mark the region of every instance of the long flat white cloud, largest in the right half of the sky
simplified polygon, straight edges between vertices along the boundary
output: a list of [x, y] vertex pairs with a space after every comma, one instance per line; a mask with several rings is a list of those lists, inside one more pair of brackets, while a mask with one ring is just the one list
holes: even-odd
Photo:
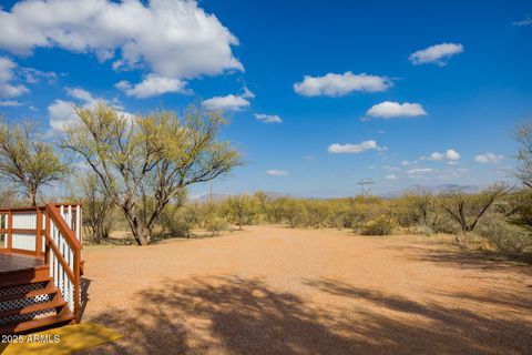
[[378, 92], [391, 88], [393, 83], [386, 77], [328, 73], [324, 77], [305, 75], [301, 82], [294, 84], [294, 91], [304, 97], [344, 97], [354, 91]]

